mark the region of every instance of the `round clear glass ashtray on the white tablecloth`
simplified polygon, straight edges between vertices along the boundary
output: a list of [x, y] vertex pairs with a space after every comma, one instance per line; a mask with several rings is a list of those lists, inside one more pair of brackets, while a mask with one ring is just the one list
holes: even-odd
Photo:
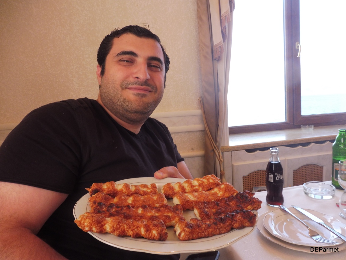
[[335, 187], [333, 185], [320, 182], [309, 181], [303, 184], [304, 193], [313, 199], [331, 199], [335, 194]]

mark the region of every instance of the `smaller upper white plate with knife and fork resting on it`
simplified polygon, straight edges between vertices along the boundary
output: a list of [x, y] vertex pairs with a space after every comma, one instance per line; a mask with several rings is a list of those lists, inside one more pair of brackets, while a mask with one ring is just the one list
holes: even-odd
[[[296, 209], [289, 208], [289, 210], [295, 216], [303, 220], [309, 227], [317, 231], [322, 237], [328, 240], [335, 241], [336, 242], [335, 245], [339, 245], [344, 242], [337, 235], [331, 233], [327, 228], [314, 222], [313, 220], [306, 217], [305, 215], [303, 215]], [[311, 214], [322, 219], [326, 223], [326, 225], [328, 225], [329, 223], [330, 224], [329, 226], [334, 228], [339, 233], [343, 235], [346, 234], [345, 225], [341, 223], [339, 220], [314, 210], [310, 210], [310, 209], [306, 209], [306, 210], [310, 212]], [[280, 209], [273, 210], [269, 212], [268, 214], [266, 214], [266, 216], [263, 219], [263, 225], [265, 229], [271, 235], [288, 243], [302, 245], [302, 246], [310, 246], [310, 247], [311, 246], [319, 246], [319, 247], [330, 246], [330, 244], [321, 243], [321, 242], [317, 242], [313, 240], [309, 236], [309, 230], [306, 226], [304, 226], [297, 219], [295, 219], [294, 217], [292, 217], [291, 215], [285, 213], [284, 211]]]

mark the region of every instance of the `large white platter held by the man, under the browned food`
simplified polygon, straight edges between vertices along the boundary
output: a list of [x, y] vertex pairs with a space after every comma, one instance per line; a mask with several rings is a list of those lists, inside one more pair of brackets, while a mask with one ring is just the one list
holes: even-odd
[[[164, 184], [171, 182], [183, 182], [185, 179], [176, 179], [176, 178], [165, 178], [162, 180], [155, 179], [154, 177], [142, 177], [142, 178], [133, 178], [117, 181], [117, 183], [129, 183], [133, 185], [137, 184], [151, 184], [155, 183], [158, 190], [161, 191], [161, 188]], [[89, 193], [81, 197], [74, 206], [73, 215], [74, 218], [78, 218], [80, 215], [90, 210], [89, 207]], [[172, 199], [168, 200], [170, 205], [173, 205]], [[257, 210], [253, 210], [257, 215]], [[184, 216], [186, 220], [195, 218], [195, 215], [192, 210], [184, 210]], [[258, 216], [258, 215], [257, 215]], [[95, 237], [95, 239], [106, 243], [117, 248], [129, 250], [129, 251], [138, 251], [146, 252], [153, 254], [176, 254], [176, 253], [193, 253], [193, 252], [207, 252], [213, 251], [220, 248], [224, 248], [242, 237], [250, 234], [254, 230], [254, 227], [245, 227], [243, 229], [232, 229], [226, 234], [216, 235], [212, 237], [206, 237], [202, 239], [190, 240], [190, 241], [180, 241], [173, 227], [167, 228], [168, 238], [166, 241], [154, 241], [147, 240], [143, 238], [132, 238], [129, 236], [118, 237], [109, 233], [98, 234], [94, 232], [88, 232], [90, 235]]]

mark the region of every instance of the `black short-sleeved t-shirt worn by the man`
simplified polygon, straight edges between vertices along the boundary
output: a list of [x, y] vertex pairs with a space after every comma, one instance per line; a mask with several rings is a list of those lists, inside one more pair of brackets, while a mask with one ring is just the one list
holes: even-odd
[[94, 182], [152, 177], [183, 161], [167, 127], [149, 118], [138, 135], [95, 100], [69, 99], [30, 112], [0, 147], [0, 181], [67, 193], [38, 236], [68, 259], [179, 259], [121, 250], [73, 222], [73, 207]]

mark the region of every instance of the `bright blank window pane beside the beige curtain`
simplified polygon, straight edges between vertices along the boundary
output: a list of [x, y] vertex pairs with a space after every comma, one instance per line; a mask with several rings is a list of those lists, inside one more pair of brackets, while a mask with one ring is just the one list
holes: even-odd
[[283, 3], [237, 1], [233, 16], [228, 125], [285, 122]]

